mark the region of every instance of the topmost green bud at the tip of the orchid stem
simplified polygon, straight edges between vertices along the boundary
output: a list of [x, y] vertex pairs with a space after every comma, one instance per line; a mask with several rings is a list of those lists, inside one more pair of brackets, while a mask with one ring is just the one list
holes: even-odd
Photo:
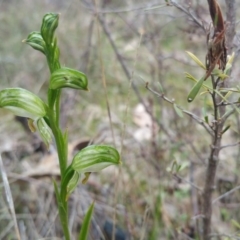
[[59, 14], [47, 13], [43, 17], [41, 34], [46, 44], [52, 44], [54, 32], [58, 26]]

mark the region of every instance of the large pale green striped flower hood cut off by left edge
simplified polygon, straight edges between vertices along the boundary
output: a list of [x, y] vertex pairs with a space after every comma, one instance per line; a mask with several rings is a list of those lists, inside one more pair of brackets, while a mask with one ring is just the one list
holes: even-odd
[[0, 91], [0, 107], [15, 115], [37, 120], [47, 113], [47, 105], [35, 94], [23, 88], [6, 88]]

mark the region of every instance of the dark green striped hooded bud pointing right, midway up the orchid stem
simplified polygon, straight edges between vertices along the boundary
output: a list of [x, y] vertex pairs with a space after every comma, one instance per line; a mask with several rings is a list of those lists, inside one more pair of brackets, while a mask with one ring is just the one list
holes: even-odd
[[88, 80], [84, 73], [64, 67], [53, 72], [49, 88], [75, 88], [88, 90], [87, 86]]

